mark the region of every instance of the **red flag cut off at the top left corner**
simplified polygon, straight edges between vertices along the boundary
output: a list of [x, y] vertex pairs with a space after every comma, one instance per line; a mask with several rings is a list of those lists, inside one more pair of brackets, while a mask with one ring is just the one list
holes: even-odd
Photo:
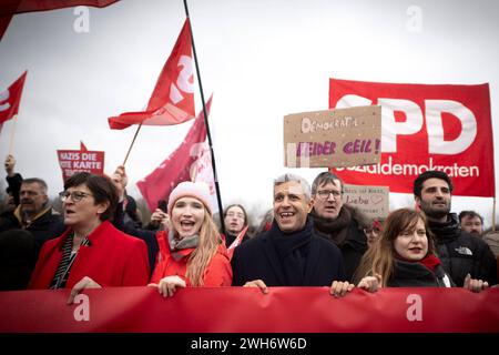
[[77, 6], [105, 8], [119, 0], [2, 0], [0, 7], [0, 39], [14, 13], [47, 11]]

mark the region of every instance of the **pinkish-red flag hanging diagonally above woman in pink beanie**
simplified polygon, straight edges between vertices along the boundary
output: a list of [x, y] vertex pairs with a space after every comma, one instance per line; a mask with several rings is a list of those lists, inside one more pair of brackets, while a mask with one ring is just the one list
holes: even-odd
[[[211, 105], [212, 98], [206, 103], [207, 114], [210, 114]], [[197, 160], [200, 146], [205, 140], [206, 126], [203, 111], [201, 111], [183, 143], [151, 174], [136, 183], [151, 211], [156, 209], [157, 201], [167, 200], [170, 192], [179, 183], [192, 180], [191, 168]]]

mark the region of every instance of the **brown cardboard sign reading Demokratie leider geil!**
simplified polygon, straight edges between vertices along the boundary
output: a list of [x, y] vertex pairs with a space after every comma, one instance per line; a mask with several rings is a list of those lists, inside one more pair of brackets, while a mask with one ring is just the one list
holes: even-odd
[[381, 108], [377, 105], [284, 116], [284, 165], [346, 168], [379, 162]]

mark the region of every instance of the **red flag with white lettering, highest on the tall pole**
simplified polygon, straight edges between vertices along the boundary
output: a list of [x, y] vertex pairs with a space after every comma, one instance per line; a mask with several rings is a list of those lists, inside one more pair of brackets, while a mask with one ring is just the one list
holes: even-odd
[[175, 47], [157, 78], [146, 111], [125, 112], [108, 120], [112, 130], [122, 130], [141, 122], [145, 125], [179, 124], [194, 116], [191, 24], [186, 19]]

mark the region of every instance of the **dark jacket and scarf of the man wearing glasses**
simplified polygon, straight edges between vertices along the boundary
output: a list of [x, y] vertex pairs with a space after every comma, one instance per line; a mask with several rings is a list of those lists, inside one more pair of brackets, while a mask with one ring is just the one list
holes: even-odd
[[334, 242], [342, 251], [345, 263], [346, 280], [352, 281], [360, 258], [367, 251], [367, 239], [360, 225], [366, 216], [355, 207], [343, 205], [336, 220], [319, 217], [314, 210], [310, 212], [314, 229], [320, 235]]

